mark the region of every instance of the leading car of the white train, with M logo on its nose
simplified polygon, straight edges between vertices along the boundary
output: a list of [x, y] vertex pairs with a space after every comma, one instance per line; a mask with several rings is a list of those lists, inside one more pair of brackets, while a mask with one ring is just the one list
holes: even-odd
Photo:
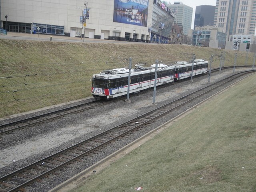
[[[158, 64], [157, 86], [174, 81], [174, 66]], [[128, 92], [128, 68], [106, 70], [92, 76], [94, 97], [115, 98]], [[130, 73], [130, 93], [154, 87], [155, 64], [151, 68], [132, 69]]]

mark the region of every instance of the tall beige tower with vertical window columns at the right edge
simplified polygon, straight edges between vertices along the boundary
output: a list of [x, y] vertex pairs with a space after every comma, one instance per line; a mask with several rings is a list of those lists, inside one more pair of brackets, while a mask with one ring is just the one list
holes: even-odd
[[228, 36], [254, 34], [256, 27], [255, 0], [216, 0], [214, 26]]

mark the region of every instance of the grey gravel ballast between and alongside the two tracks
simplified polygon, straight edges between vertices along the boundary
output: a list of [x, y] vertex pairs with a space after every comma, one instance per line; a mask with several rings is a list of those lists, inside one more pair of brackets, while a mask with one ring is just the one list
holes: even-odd
[[[239, 70], [242, 71], [247, 69]], [[232, 70], [222, 70], [221, 72], [212, 73], [210, 83], [216, 82], [218, 79], [232, 74]], [[91, 109], [89, 112], [70, 114], [52, 122], [36, 125], [31, 128], [25, 128], [13, 132], [12, 134], [1, 136], [0, 176], [17, 170], [18, 168], [26, 166], [36, 160], [40, 160], [41, 158], [49, 156], [50, 154], [58, 152], [68, 146], [81, 142], [90, 136], [112, 128], [113, 126], [122, 124], [136, 116], [189, 94], [194, 90], [207, 86], [208, 84], [208, 75], [193, 78], [193, 82], [190, 80], [174, 82], [173, 84], [170, 84], [170, 86], [164, 88], [157, 87], [155, 105], [152, 104], [152, 89], [149, 92], [142, 92], [140, 94], [130, 96], [131, 103], [125, 102], [124, 98], [123, 100], [117, 100], [111, 104], [101, 106], [100, 108]], [[83, 101], [78, 101], [73, 104], [81, 102]], [[64, 106], [58, 106], [57, 108], [63, 107]], [[38, 111], [35, 113], [38, 114], [41, 112]], [[29, 113], [25, 116], [34, 116], [35, 113]], [[173, 115], [175, 116], [176, 114]], [[171, 117], [168, 118], [170, 119]], [[166, 122], [168, 118], [163, 119], [162, 122], [152, 125], [149, 129], [160, 126], [162, 123]], [[10, 119], [5, 121], [10, 121]], [[63, 175], [60, 173], [60, 175], [52, 176], [50, 180], [54, 180], [53, 183], [48, 182], [46, 179], [46, 181], [42, 183], [44, 188], [40, 188], [42, 188], [42, 191], [48, 191], [50, 188], [53, 188], [54, 185], [64, 182], [66, 179], [82, 171], [86, 166], [89, 166], [101, 159], [102, 156], [111, 154], [116, 149], [121, 148], [132, 140], [142, 136], [147, 131], [148, 130], [142, 130], [138, 135], [134, 135], [123, 143], [109, 147], [108, 150], [104, 152], [105, 154], [99, 154], [98, 157], [94, 157], [94, 160], [92, 160], [93, 162], [88, 160], [88, 162], [83, 166], [78, 165], [77, 168], [74, 168], [76, 166], [74, 165], [74, 167], [70, 169], [67, 168], [67, 172]]]

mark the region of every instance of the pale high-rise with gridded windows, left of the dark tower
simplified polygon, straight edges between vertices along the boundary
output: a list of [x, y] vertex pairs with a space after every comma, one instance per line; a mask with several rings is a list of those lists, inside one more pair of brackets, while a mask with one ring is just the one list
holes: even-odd
[[167, 6], [176, 14], [173, 23], [182, 27], [184, 35], [187, 35], [191, 28], [193, 8], [184, 5], [182, 2], [174, 2], [174, 4], [168, 4]]

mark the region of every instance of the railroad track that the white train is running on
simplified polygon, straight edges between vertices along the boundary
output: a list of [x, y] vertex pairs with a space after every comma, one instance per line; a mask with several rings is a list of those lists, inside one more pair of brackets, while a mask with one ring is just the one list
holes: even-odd
[[[251, 67], [251, 66], [236, 66], [236, 67], [240, 68], [240, 67]], [[233, 68], [233, 66], [222, 67], [222, 70], [229, 69], [229, 68]], [[219, 68], [214, 68], [211, 70], [211, 72], [217, 72], [217, 71], [219, 71]], [[168, 85], [164, 85], [164, 86], [168, 86]], [[164, 86], [162, 86], [162, 87], [164, 87]], [[110, 101], [96, 100], [96, 101], [92, 101], [92, 102], [87, 102], [85, 104], [80, 104], [77, 106], [72, 106], [72, 107], [61, 109], [61, 110], [56, 110], [54, 112], [49, 112], [49, 113], [42, 114], [39, 116], [33, 116], [30, 118], [25, 118], [25, 119], [10, 122], [7, 124], [2, 124], [2, 125], [0, 125], [0, 135], [6, 134], [6, 133], [11, 133], [11, 132], [14, 132], [15, 130], [19, 130], [19, 129], [23, 129], [23, 128], [28, 128], [28, 127], [34, 126], [36, 124], [42, 124], [43, 122], [51, 121], [56, 118], [61, 118], [62, 116], [65, 116], [68, 114], [81, 112], [81, 111], [84, 111], [84, 110], [87, 110], [87, 109], [90, 109], [90, 108], [93, 108], [96, 106], [100, 106], [102, 104], [107, 104], [108, 102], [112, 102], [112, 101], [111, 100]]]

